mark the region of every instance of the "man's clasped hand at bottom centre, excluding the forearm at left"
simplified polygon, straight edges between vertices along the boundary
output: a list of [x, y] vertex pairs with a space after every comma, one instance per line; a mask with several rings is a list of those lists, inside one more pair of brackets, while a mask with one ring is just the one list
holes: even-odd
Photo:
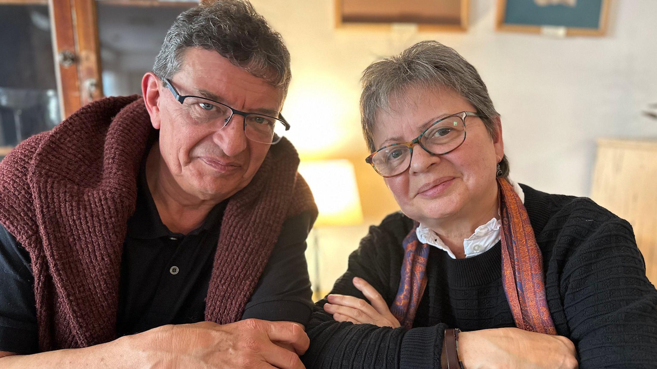
[[299, 355], [308, 345], [299, 324], [256, 319], [162, 326], [122, 341], [127, 354], [136, 355], [139, 364], [164, 368], [302, 369]]

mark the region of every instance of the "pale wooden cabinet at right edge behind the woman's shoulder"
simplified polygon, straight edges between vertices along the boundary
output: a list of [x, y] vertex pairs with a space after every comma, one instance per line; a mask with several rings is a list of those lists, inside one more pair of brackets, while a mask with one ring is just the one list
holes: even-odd
[[657, 284], [657, 140], [600, 139], [591, 198], [629, 221]]

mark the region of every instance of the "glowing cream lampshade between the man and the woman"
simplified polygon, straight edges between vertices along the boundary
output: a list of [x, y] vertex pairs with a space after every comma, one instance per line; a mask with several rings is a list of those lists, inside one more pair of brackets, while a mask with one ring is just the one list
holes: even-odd
[[299, 173], [306, 179], [319, 208], [315, 226], [363, 223], [356, 177], [349, 160], [301, 162]]

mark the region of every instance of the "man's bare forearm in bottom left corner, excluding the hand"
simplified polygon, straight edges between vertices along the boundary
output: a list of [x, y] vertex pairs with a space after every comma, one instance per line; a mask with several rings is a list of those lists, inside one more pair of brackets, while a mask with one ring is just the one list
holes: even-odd
[[134, 368], [137, 358], [121, 347], [123, 339], [82, 349], [0, 357], [0, 368]]

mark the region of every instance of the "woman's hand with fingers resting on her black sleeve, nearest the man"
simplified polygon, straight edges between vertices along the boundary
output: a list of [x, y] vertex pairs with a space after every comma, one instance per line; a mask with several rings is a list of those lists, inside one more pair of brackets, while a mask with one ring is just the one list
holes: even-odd
[[353, 324], [374, 324], [380, 327], [399, 327], [399, 322], [390, 313], [388, 304], [380, 293], [365, 282], [364, 279], [354, 277], [353, 286], [367, 297], [370, 303], [363, 299], [346, 295], [328, 295], [328, 303], [324, 304], [324, 311], [333, 315], [338, 322], [352, 322]]

